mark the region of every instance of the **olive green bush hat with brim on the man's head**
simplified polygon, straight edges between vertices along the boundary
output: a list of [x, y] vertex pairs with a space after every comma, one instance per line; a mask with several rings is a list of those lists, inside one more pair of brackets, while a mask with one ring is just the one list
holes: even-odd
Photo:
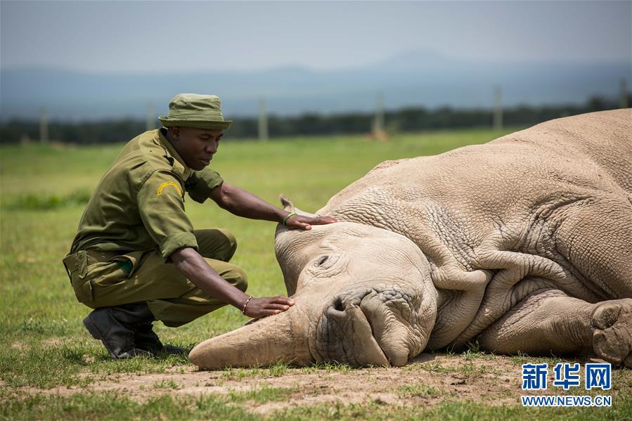
[[179, 93], [169, 101], [169, 115], [161, 115], [158, 119], [165, 127], [226, 130], [233, 121], [224, 119], [219, 104], [218, 96]]

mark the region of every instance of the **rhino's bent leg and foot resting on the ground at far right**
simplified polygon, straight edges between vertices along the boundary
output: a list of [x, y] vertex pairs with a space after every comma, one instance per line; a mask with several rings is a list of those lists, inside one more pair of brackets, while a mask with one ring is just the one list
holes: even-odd
[[592, 349], [632, 367], [632, 299], [591, 304], [559, 290], [536, 291], [478, 337], [501, 354], [569, 354]]

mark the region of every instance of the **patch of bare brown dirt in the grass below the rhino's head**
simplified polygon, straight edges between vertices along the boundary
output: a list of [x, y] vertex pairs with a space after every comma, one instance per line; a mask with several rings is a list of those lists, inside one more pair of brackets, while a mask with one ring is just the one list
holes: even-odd
[[[286, 396], [272, 401], [245, 401], [255, 413], [323, 403], [376, 401], [387, 405], [413, 403], [432, 406], [445, 400], [487, 405], [517, 404], [521, 368], [505, 356], [445, 356], [422, 354], [402, 368], [289, 368], [274, 377], [270, 370], [199, 371], [176, 368], [172, 373], [117, 374], [88, 387], [22, 388], [26, 394], [68, 395], [85, 391], [121, 391], [138, 401], [161, 394], [227, 396], [262, 388], [285, 388]], [[228, 399], [230, 400], [230, 399]]]

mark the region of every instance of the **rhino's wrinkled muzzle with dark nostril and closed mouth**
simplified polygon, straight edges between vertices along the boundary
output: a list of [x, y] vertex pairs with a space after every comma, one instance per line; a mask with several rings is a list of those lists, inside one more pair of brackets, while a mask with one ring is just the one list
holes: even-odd
[[[401, 297], [395, 309], [385, 299], [393, 296]], [[406, 364], [411, 325], [399, 309], [410, 306], [405, 296], [401, 291], [366, 290], [335, 297], [318, 318], [315, 335], [310, 335], [314, 359], [352, 366]]]

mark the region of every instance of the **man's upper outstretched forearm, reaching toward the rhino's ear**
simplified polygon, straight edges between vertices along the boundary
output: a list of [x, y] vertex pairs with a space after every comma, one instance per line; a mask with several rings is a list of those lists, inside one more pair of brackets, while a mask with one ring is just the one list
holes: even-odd
[[212, 197], [215, 202], [228, 212], [250, 219], [264, 221], [283, 221], [288, 212], [270, 205], [265, 200], [253, 195], [242, 188], [224, 183], [217, 194]]

